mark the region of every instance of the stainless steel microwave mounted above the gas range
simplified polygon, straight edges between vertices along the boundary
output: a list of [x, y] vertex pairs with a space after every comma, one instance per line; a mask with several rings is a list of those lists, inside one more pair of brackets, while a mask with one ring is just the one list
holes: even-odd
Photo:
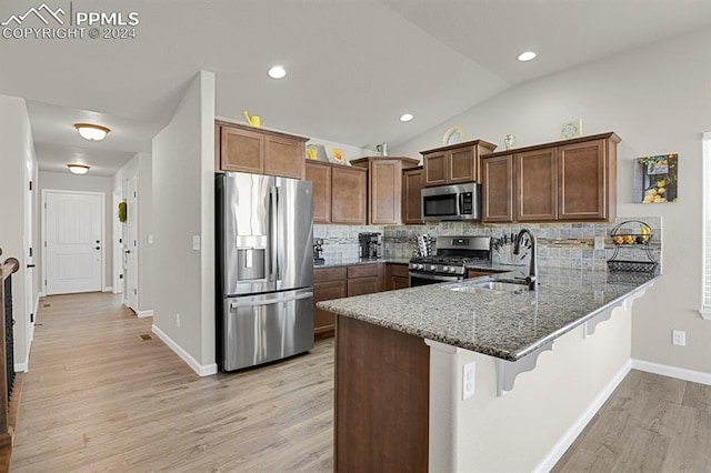
[[422, 189], [422, 220], [481, 220], [481, 184]]

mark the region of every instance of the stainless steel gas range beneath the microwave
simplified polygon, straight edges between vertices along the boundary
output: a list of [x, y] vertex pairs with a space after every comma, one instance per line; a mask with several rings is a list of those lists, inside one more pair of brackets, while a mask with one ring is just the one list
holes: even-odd
[[491, 236], [438, 236], [437, 253], [410, 260], [410, 288], [467, 278], [467, 265], [491, 263]]

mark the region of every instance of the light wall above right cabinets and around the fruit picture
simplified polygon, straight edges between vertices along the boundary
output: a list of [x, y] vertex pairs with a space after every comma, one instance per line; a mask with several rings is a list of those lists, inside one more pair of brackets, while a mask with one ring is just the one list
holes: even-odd
[[[560, 124], [582, 119], [583, 134], [614, 131], [618, 214], [654, 215], [663, 225], [663, 278], [634, 306], [632, 356], [711, 372], [711, 322], [701, 304], [701, 133], [711, 130], [711, 31], [697, 31], [597, 63], [514, 87], [453, 117], [391, 154], [417, 155], [440, 145], [452, 124], [467, 139], [503, 149], [558, 140]], [[525, 67], [525, 64], [521, 64]], [[679, 202], [632, 202], [635, 158], [679, 153]], [[671, 331], [687, 332], [687, 346], [671, 344]]]

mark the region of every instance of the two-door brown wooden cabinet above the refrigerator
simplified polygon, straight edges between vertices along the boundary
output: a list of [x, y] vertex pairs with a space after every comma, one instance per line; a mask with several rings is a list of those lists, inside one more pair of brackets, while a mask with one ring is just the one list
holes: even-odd
[[304, 178], [306, 138], [231, 122], [216, 124], [220, 129], [216, 170]]

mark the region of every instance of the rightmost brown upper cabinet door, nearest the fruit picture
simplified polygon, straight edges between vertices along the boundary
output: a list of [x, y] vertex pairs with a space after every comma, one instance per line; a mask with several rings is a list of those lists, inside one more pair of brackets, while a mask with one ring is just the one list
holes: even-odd
[[604, 140], [558, 148], [560, 220], [605, 220], [607, 173]]

